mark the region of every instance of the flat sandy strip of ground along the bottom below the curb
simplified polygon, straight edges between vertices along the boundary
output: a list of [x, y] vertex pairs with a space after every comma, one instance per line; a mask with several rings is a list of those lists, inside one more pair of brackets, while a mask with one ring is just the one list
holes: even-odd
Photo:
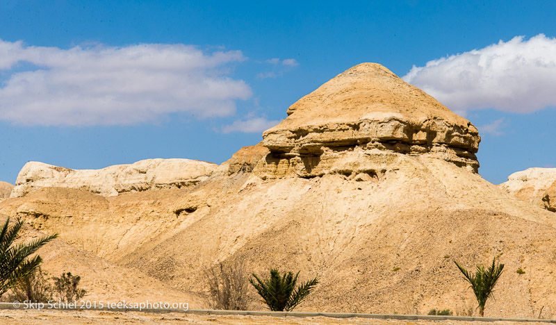
[[330, 317], [270, 317], [240, 315], [190, 315], [180, 313], [149, 314], [110, 311], [61, 311], [61, 310], [0, 310], [0, 324], [532, 324], [520, 322], [461, 322], [461, 321], [402, 321], [395, 319], [330, 318]]

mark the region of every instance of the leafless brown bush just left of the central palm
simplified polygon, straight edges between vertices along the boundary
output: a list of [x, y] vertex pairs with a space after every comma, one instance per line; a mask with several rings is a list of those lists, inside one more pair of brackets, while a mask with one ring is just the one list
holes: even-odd
[[218, 263], [204, 271], [213, 309], [247, 310], [249, 279], [242, 260]]

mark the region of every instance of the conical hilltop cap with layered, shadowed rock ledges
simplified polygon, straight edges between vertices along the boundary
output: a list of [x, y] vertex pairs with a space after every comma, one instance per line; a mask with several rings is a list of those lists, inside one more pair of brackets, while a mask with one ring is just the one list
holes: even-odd
[[467, 119], [382, 65], [363, 63], [294, 103], [284, 121], [263, 133], [270, 154], [256, 174], [376, 174], [377, 165], [393, 159], [388, 153], [434, 156], [477, 172], [479, 142]]

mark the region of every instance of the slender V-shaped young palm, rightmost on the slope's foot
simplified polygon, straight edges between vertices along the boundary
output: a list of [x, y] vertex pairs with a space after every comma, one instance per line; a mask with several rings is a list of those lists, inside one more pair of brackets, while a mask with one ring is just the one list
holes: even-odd
[[484, 317], [484, 304], [487, 299], [492, 297], [494, 286], [498, 282], [498, 278], [500, 278], [504, 269], [503, 264], [495, 265], [495, 261], [496, 258], [493, 258], [492, 265], [486, 269], [483, 265], [477, 265], [477, 271], [475, 274], [471, 274], [471, 272], [466, 270], [454, 260], [454, 263], [459, 271], [464, 274], [465, 281], [471, 284], [470, 288], [473, 289], [475, 298], [477, 298], [477, 303], [479, 303], [480, 317]]

